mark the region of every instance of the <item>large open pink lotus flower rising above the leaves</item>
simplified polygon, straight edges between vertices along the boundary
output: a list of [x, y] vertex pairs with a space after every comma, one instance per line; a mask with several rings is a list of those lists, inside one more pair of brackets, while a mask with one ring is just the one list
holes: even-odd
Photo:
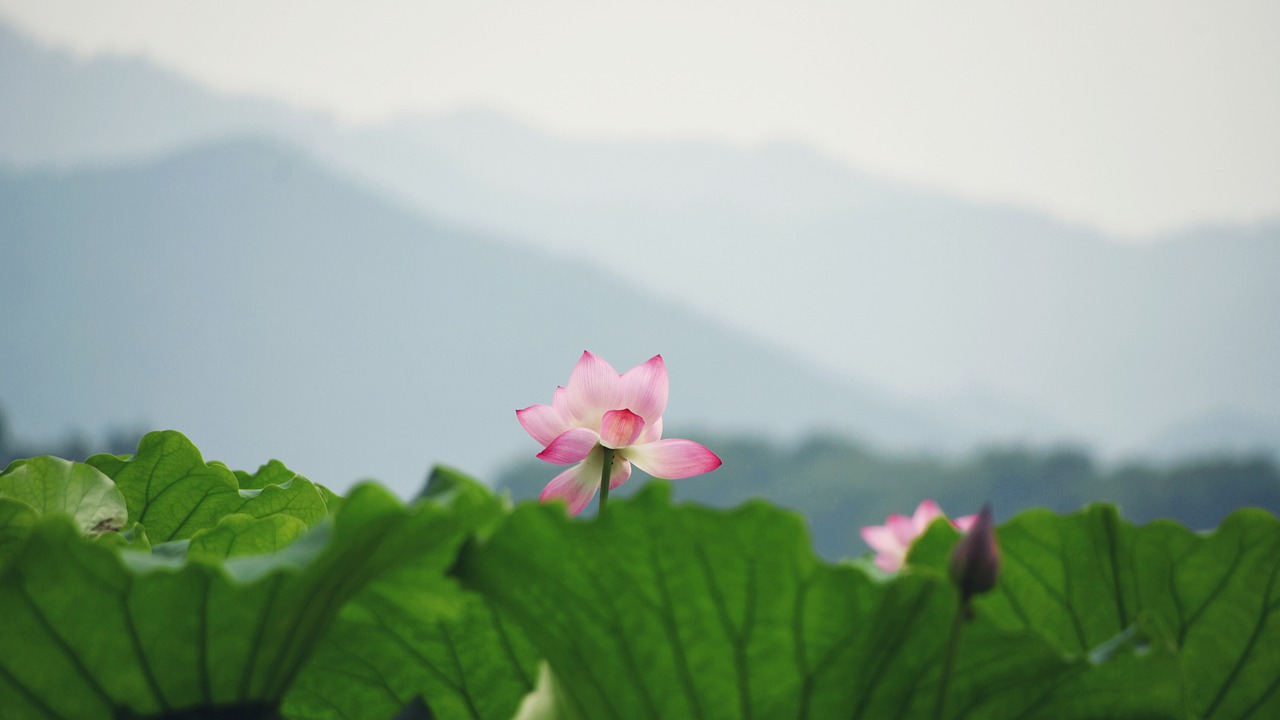
[[613, 450], [609, 489], [627, 482], [631, 465], [669, 480], [709, 473], [721, 459], [689, 439], [662, 439], [667, 409], [667, 366], [662, 355], [618, 374], [600, 357], [584, 352], [557, 387], [550, 405], [516, 411], [525, 430], [543, 445], [539, 460], [573, 465], [547, 484], [541, 501], [563, 498], [577, 515], [600, 487], [604, 448]]

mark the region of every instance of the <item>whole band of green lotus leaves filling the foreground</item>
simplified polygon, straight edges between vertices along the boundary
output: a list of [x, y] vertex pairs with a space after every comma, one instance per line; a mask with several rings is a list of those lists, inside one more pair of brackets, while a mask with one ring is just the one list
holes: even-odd
[[[841, 447], [795, 452], [847, 470]], [[1042, 464], [1059, 483], [1089, 466]], [[13, 462], [0, 473], [0, 708], [104, 720], [1280, 712], [1280, 521], [1268, 512], [1233, 512], [1210, 533], [1135, 525], [1108, 505], [1021, 512], [997, 529], [996, 587], [970, 602], [943, 570], [959, 539], [947, 523], [886, 575], [819, 559], [799, 512], [675, 505], [673, 487], [696, 484], [641, 484], [582, 520], [561, 505], [512, 509], [447, 468], [408, 505], [372, 483], [339, 502], [282, 462], [205, 461], [173, 430], [131, 457]], [[143, 524], [169, 539], [148, 543]], [[525, 702], [530, 692], [540, 701]]]

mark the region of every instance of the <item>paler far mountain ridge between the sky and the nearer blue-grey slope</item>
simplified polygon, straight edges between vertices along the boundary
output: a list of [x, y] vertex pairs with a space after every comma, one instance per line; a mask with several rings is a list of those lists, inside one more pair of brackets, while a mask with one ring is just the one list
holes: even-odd
[[1165, 452], [1224, 410], [1252, 419], [1229, 443], [1280, 423], [1280, 220], [1124, 246], [786, 143], [584, 142], [484, 111], [343, 128], [3, 26], [0, 60], [0, 91], [27, 88], [0, 113], [10, 163], [291, 138], [428, 218], [596, 263], [966, 438]]

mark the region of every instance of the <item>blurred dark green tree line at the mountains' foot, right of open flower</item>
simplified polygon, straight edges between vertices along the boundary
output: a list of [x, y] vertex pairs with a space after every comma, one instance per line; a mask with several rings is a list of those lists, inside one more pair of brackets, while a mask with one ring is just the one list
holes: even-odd
[[[1244, 506], [1280, 514], [1280, 469], [1263, 456], [1105, 468], [1078, 447], [1000, 447], [948, 459], [884, 452], [831, 436], [799, 443], [740, 436], [696, 439], [724, 465], [709, 475], [676, 480], [677, 501], [731, 507], [764, 498], [797, 510], [827, 557], [867, 552], [860, 527], [881, 524], [891, 512], [910, 514], [925, 497], [951, 516], [991, 502], [1001, 519], [1029, 507], [1070, 512], [1091, 502], [1112, 502], [1132, 521], [1169, 518], [1193, 529], [1213, 528]], [[499, 474], [495, 487], [516, 500], [538, 497], [557, 471], [538, 460], [520, 461]], [[635, 492], [644, 482], [637, 473], [618, 495]]]

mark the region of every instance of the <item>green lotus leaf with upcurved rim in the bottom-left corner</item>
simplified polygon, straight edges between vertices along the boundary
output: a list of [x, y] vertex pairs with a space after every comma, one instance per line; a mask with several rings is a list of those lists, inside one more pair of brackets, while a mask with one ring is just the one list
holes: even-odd
[[443, 578], [471, 527], [361, 486], [279, 552], [218, 562], [116, 552], [64, 515], [38, 518], [0, 568], [0, 707], [86, 720], [275, 712], [347, 601], [402, 566]]

